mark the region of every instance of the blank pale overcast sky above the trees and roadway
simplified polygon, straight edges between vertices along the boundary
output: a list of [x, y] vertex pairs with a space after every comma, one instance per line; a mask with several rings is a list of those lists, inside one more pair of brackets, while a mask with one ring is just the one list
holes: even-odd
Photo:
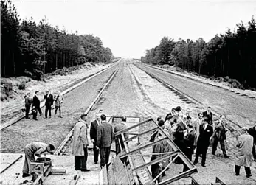
[[13, 0], [21, 19], [44, 16], [68, 32], [100, 37], [115, 56], [139, 58], [167, 36], [209, 41], [256, 18], [256, 0]]

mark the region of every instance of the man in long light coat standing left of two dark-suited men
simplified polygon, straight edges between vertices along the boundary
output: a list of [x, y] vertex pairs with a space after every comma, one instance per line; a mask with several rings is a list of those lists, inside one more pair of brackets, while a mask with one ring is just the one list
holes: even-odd
[[74, 138], [73, 138], [73, 155], [75, 156], [75, 170], [81, 170], [82, 172], [90, 171], [87, 169], [87, 128], [86, 123], [87, 114], [80, 116], [79, 122], [74, 127]]

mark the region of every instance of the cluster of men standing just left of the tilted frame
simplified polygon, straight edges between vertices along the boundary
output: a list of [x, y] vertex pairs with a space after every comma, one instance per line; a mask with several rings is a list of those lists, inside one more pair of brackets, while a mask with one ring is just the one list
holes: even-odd
[[[87, 147], [89, 141], [87, 138], [87, 129], [89, 129], [89, 122], [87, 122], [87, 114], [80, 116], [80, 121], [77, 122], [74, 128], [74, 139], [73, 139], [73, 154], [75, 156], [75, 170], [89, 171], [87, 168]], [[116, 154], [120, 153], [120, 146], [117, 144], [117, 138], [114, 133], [123, 130], [126, 127], [126, 118], [122, 117], [122, 122], [117, 123], [114, 127], [106, 121], [105, 114], [102, 110], [96, 114], [96, 119], [91, 122], [90, 127], [90, 138], [93, 144], [94, 151], [94, 164], [98, 163], [100, 155], [100, 167], [105, 167], [108, 164], [111, 144], [116, 141]], [[118, 136], [117, 136], [118, 137]], [[125, 133], [125, 139], [128, 139], [128, 133]], [[122, 142], [121, 142], [122, 143]]]

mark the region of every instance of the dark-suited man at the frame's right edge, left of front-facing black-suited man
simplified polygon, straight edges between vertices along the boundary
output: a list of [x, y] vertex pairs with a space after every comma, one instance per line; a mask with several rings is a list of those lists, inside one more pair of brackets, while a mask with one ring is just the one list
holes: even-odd
[[[194, 145], [195, 137], [196, 137], [196, 133], [195, 133], [195, 130], [193, 130], [193, 125], [189, 123], [187, 125], [187, 130], [184, 133], [184, 138], [182, 141], [184, 143], [184, 150], [182, 152], [185, 154], [185, 156], [187, 156], [188, 159], [190, 159], [190, 161], [192, 161], [193, 145]], [[183, 164], [183, 165], [184, 165], [183, 172], [186, 172], [187, 170], [189, 170], [186, 164]]]

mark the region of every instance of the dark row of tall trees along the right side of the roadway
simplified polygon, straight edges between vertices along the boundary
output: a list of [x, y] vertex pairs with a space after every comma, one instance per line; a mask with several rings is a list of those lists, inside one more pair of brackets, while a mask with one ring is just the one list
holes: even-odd
[[164, 37], [159, 45], [146, 51], [144, 63], [176, 65], [181, 69], [238, 80], [243, 88], [256, 88], [256, 21], [237, 24], [232, 32], [215, 35], [209, 42]]

